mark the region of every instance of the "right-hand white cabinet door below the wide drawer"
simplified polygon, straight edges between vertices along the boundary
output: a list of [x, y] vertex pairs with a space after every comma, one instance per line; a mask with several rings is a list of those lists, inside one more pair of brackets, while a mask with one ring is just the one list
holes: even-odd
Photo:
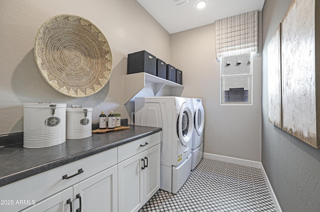
[[[117, 165], [73, 185], [73, 211], [117, 211]], [[81, 204], [80, 204], [81, 202]]]

